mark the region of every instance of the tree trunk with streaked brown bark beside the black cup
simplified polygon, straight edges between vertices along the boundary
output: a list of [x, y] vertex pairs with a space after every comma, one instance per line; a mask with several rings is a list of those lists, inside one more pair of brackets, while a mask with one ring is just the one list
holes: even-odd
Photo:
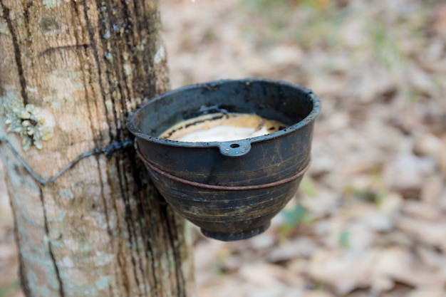
[[118, 148], [43, 185], [1, 146], [26, 296], [194, 294], [185, 222], [118, 145], [167, 87], [157, 1], [0, 0], [0, 136], [44, 178]]

